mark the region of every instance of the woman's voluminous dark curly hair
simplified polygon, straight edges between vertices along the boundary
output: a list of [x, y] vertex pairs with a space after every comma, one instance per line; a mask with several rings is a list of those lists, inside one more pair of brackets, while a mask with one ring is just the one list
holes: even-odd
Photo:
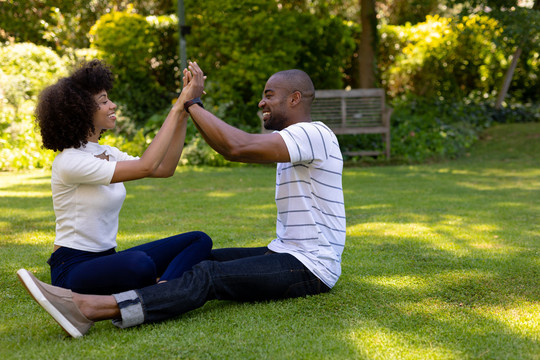
[[45, 88], [35, 110], [43, 146], [54, 151], [78, 148], [94, 133], [94, 95], [113, 87], [113, 74], [100, 60], [82, 64], [73, 74]]

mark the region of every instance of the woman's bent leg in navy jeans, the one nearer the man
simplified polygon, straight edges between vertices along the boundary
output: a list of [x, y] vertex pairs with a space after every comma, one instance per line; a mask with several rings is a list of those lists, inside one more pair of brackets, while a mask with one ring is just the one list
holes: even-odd
[[[201, 231], [191, 231], [152, 241], [121, 251], [143, 251], [156, 264], [157, 276], [161, 281], [180, 277], [193, 265], [208, 259], [212, 250], [212, 239]], [[134, 287], [133, 289], [136, 289]]]

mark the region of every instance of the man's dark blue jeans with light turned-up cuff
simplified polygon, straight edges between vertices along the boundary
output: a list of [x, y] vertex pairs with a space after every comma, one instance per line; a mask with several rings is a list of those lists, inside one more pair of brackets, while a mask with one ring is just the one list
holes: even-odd
[[115, 325], [157, 322], [196, 309], [213, 299], [258, 301], [315, 295], [329, 291], [290, 254], [266, 247], [212, 251], [180, 278], [139, 290], [114, 294], [122, 314]]

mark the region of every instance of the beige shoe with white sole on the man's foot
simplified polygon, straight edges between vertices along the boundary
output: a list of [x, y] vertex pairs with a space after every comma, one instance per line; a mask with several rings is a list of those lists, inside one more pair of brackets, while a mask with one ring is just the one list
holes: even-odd
[[81, 337], [94, 325], [94, 322], [88, 320], [73, 302], [71, 290], [39, 281], [31, 272], [25, 269], [17, 271], [17, 276], [34, 300], [69, 335], [74, 338]]

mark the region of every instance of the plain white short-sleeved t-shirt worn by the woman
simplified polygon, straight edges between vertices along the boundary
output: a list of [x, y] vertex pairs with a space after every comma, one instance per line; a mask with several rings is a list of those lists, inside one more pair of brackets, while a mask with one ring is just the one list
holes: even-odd
[[[109, 160], [94, 155], [105, 153]], [[116, 247], [118, 215], [126, 189], [111, 184], [117, 161], [135, 160], [115, 147], [89, 142], [64, 149], [52, 165], [55, 245], [100, 252]]]

